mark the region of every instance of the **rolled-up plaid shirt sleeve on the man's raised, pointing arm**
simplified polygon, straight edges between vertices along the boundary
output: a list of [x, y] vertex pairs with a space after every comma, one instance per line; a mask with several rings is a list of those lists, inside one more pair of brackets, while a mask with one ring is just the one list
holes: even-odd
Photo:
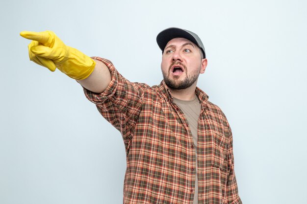
[[139, 83], [131, 83], [124, 78], [106, 59], [93, 57], [104, 63], [111, 72], [109, 86], [100, 94], [83, 88], [88, 100], [96, 104], [98, 111], [110, 122], [128, 142], [133, 131], [143, 101], [143, 89]]

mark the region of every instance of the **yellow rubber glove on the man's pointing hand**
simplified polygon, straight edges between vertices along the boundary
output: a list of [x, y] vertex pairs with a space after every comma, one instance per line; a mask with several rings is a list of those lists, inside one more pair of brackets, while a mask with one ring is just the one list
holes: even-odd
[[58, 68], [77, 80], [87, 78], [96, 62], [79, 50], [65, 45], [52, 31], [23, 31], [20, 35], [32, 40], [28, 45], [31, 61], [54, 71]]

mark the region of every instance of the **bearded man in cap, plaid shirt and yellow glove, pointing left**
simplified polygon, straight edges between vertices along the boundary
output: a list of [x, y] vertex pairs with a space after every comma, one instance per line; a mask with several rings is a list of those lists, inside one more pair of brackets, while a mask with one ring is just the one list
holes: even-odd
[[125, 204], [241, 204], [226, 116], [196, 87], [207, 59], [193, 32], [157, 35], [163, 81], [131, 83], [113, 64], [66, 46], [53, 32], [24, 31], [29, 57], [77, 80], [124, 139]]

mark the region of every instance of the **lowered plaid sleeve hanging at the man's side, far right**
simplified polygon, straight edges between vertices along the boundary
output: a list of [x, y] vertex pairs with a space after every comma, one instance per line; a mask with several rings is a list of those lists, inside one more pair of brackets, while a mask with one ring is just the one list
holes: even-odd
[[228, 168], [227, 168], [227, 183], [226, 183], [226, 199], [227, 204], [242, 204], [238, 194], [238, 186], [234, 173], [234, 158], [233, 158], [233, 141], [231, 130], [229, 132], [229, 149], [228, 149]]

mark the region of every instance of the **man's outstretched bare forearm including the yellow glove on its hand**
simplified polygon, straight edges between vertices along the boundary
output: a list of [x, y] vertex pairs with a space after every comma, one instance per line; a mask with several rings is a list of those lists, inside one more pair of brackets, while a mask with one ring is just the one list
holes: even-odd
[[20, 35], [32, 40], [28, 45], [31, 61], [51, 71], [58, 68], [90, 91], [101, 93], [108, 87], [109, 69], [102, 62], [65, 45], [52, 31], [23, 31]]

